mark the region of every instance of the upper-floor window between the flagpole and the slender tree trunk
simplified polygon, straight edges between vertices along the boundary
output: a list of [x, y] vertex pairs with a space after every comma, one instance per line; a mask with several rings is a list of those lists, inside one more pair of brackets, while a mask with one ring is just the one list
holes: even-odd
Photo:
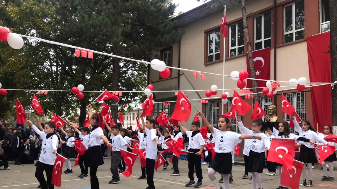
[[239, 22], [229, 27], [229, 56], [243, 54], [243, 22]]

